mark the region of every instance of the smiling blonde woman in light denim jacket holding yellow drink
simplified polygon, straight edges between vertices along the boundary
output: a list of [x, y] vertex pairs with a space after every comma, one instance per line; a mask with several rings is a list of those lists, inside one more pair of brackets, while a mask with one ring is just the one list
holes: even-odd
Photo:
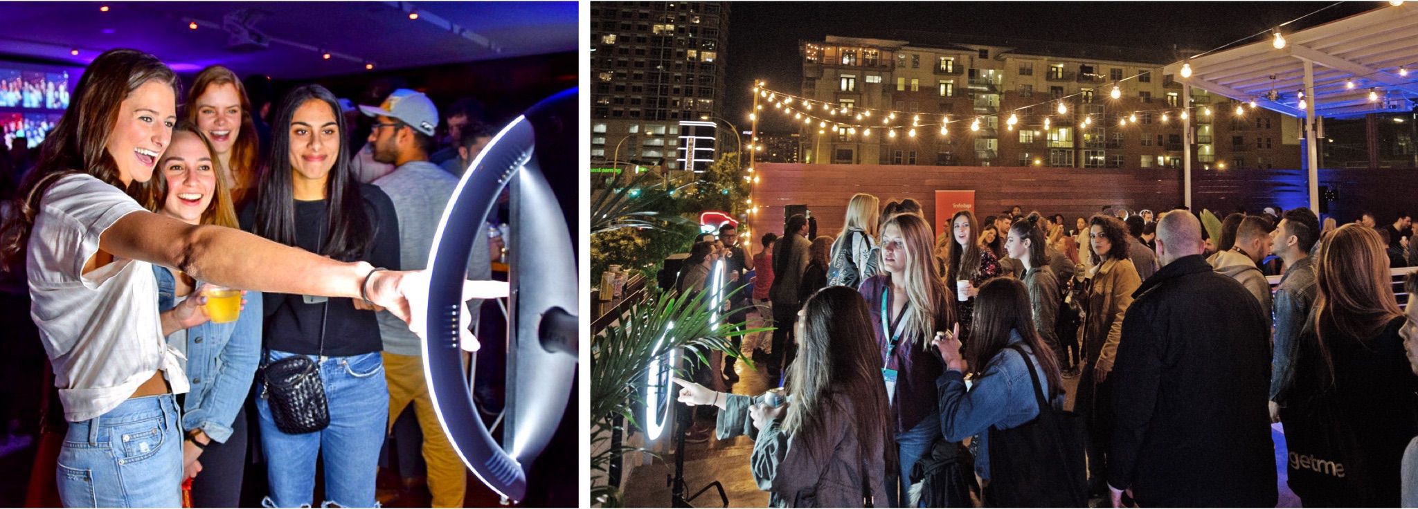
[[[194, 125], [179, 122], [145, 206], [189, 224], [235, 228], [237, 214], [214, 153]], [[182, 428], [187, 435], [183, 457], [193, 464], [186, 472], [193, 476], [193, 506], [235, 508], [247, 458], [242, 405], [261, 350], [261, 293], [248, 295], [251, 305], [235, 322], [213, 323], [201, 306], [206, 284], [162, 265], [153, 265], [153, 275], [163, 332], [187, 356], [191, 391], [182, 403]]]

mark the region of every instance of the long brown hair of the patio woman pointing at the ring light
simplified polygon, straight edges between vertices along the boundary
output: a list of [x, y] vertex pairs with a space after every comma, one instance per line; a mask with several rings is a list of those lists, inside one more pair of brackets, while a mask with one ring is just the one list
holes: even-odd
[[866, 299], [847, 286], [827, 286], [803, 303], [803, 335], [788, 383], [793, 404], [783, 430], [788, 434], [820, 431], [824, 411], [842, 411], [824, 408], [832, 403], [832, 393], [841, 393], [852, 401], [855, 415], [849, 418], [856, 423], [864, 458], [885, 454], [888, 465], [895, 464], [891, 458], [895, 447], [865, 449], [868, 444], [893, 444], [896, 428], [881, 379], [881, 352], [872, 340]]

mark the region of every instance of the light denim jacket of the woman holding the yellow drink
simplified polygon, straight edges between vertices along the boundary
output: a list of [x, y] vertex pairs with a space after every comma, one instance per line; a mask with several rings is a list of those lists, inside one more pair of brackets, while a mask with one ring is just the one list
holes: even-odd
[[[173, 272], [153, 265], [153, 275], [157, 278], [157, 309], [172, 309], [177, 301]], [[200, 428], [217, 442], [231, 437], [231, 424], [247, 401], [261, 357], [261, 293], [247, 292], [245, 298], [247, 306], [235, 322], [207, 322], [187, 329], [191, 391], [183, 401], [182, 428]]]

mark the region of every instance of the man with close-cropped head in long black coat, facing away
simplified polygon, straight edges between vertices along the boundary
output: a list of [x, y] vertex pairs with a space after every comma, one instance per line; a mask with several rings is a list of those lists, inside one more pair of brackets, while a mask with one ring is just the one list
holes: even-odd
[[1201, 223], [1157, 224], [1161, 269], [1134, 292], [1113, 367], [1113, 506], [1273, 508], [1271, 320], [1201, 258]]

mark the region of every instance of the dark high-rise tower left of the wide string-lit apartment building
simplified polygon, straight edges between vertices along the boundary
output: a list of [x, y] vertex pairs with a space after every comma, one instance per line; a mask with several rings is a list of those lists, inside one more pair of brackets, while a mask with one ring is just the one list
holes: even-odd
[[706, 143], [681, 122], [723, 116], [729, 4], [597, 1], [590, 14], [593, 164], [683, 170], [682, 140]]

